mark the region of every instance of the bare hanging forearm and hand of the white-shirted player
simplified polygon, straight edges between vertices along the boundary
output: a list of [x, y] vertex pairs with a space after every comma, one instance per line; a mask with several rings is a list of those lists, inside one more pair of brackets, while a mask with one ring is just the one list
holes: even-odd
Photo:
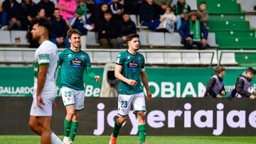
[[36, 89], [36, 99], [39, 107], [43, 105], [43, 99], [41, 97], [41, 92], [43, 90], [43, 86], [46, 83], [46, 74], [48, 70], [48, 65], [40, 65], [38, 72], [38, 87]]

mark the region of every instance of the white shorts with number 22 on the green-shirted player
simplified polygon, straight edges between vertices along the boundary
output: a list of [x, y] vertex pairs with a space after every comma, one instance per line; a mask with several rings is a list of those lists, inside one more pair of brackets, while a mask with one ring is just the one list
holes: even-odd
[[85, 91], [77, 91], [68, 87], [63, 87], [60, 91], [64, 106], [75, 105], [76, 111], [84, 109]]

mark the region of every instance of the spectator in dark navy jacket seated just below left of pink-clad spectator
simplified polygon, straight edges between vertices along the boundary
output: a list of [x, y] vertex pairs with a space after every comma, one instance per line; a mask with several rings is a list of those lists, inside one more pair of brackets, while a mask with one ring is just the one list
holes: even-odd
[[55, 45], [65, 48], [70, 48], [70, 43], [68, 42], [67, 32], [68, 26], [60, 16], [60, 9], [56, 8], [53, 12], [53, 17], [50, 18], [52, 23], [52, 29], [50, 33], [50, 41], [55, 43]]

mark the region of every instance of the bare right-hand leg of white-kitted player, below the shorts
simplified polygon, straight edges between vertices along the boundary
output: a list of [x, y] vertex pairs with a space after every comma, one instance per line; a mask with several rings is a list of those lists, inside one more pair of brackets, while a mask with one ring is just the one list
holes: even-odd
[[41, 143], [50, 144], [50, 120], [51, 116], [36, 116], [38, 126], [41, 129]]

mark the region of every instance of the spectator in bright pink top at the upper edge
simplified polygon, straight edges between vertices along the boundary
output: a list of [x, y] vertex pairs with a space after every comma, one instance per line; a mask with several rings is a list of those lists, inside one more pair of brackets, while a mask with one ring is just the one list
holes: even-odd
[[77, 2], [75, 0], [59, 0], [57, 8], [60, 9], [60, 16], [63, 20], [70, 23], [77, 9]]

